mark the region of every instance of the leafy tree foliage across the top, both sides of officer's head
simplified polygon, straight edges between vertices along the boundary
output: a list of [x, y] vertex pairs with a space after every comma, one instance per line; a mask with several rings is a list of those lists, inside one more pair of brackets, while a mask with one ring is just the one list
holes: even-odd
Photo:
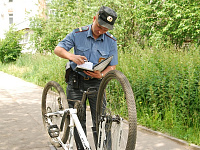
[[51, 0], [46, 18], [31, 18], [35, 48], [51, 52], [73, 29], [91, 24], [102, 5], [118, 14], [115, 29], [110, 32], [122, 50], [129, 49], [133, 40], [140, 45], [158, 40], [179, 47], [184, 42], [199, 44], [200, 2], [195, 0]]

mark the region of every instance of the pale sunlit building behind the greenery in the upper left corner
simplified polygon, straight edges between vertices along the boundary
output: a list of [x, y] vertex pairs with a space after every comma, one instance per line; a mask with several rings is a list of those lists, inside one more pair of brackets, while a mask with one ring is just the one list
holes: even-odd
[[30, 21], [29, 18], [39, 14], [45, 17], [44, 10], [46, 9], [47, 0], [0, 0], [0, 39], [4, 39], [4, 33], [9, 30], [10, 25], [14, 24], [15, 28], [20, 31], [26, 31], [24, 39], [20, 41], [23, 46], [22, 52], [32, 52], [29, 41]]

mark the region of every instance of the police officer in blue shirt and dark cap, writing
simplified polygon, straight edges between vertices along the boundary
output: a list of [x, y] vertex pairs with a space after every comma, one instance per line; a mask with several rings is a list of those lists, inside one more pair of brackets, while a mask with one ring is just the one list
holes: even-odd
[[[108, 32], [113, 29], [116, 19], [117, 14], [113, 9], [102, 6], [97, 15], [93, 17], [93, 24], [73, 30], [55, 48], [55, 54], [68, 59], [72, 69], [67, 81], [68, 99], [81, 100], [82, 91], [86, 91], [89, 87], [98, 88], [105, 74], [116, 68], [118, 64], [117, 42], [116, 38]], [[74, 54], [69, 52], [71, 48], [74, 48]], [[112, 55], [112, 61], [102, 72], [75, 71], [76, 65], [83, 64], [85, 61], [90, 61], [95, 65]], [[74, 81], [76, 82], [74, 83]], [[88, 97], [94, 127], [96, 126], [96, 99], [96, 96]], [[73, 106], [74, 101], [69, 101], [69, 107]], [[81, 125], [86, 132], [86, 119], [81, 121]], [[75, 140], [77, 149], [82, 150], [83, 147], [76, 130]]]

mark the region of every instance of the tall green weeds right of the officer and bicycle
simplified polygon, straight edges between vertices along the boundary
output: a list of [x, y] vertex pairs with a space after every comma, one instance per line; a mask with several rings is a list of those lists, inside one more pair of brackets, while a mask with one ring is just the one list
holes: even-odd
[[195, 48], [133, 47], [119, 53], [117, 69], [131, 82], [140, 124], [200, 144], [199, 57]]

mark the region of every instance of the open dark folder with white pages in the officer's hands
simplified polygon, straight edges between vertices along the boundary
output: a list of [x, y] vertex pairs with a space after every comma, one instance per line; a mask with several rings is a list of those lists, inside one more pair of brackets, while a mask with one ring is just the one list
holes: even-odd
[[111, 62], [111, 60], [113, 59], [113, 56], [110, 56], [104, 60], [102, 60], [101, 62], [99, 62], [96, 65], [93, 65], [92, 62], [85, 62], [82, 65], [77, 65], [75, 70], [76, 71], [95, 71], [95, 70], [99, 70], [100, 72], [103, 71]]

